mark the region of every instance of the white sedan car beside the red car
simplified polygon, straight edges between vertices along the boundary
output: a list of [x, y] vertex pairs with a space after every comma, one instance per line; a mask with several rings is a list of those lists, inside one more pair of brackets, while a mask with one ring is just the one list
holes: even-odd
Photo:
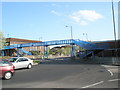
[[27, 57], [13, 57], [8, 59], [13, 65], [14, 69], [19, 69], [19, 68], [32, 68], [33, 65], [33, 60], [27, 58]]

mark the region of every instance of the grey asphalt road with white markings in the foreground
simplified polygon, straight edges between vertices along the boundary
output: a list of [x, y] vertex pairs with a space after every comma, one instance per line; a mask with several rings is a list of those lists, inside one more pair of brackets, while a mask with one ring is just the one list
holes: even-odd
[[118, 88], [119, 81], [117, 66], [60, 59], [16, 70], [11, 80], [2, 83], [3, 88]]

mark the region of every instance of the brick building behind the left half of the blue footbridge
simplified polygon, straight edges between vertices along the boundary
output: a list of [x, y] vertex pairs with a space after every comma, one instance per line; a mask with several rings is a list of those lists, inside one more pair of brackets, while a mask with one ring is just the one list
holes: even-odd
[[[42, 42], [42, 41], [18, 39], [18, 38], [6, 38], [6, 44], [7, 45], [34, 43], [34, 42]], [[23, 49], [25, 51], [38, 51], [40, 53], [44, 52], [44, 47], [43, 46], [23, 47]], [[5, 53], [6, 56], [15, 56], [16, 49], [5, 50], [5, 52], [6, 52]]]

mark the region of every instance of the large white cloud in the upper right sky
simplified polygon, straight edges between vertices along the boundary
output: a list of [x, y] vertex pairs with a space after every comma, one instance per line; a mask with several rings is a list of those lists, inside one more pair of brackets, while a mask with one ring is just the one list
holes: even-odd
[[77, 12], [73, 12], [69, 17], [76, 23], [80, 25], [87, 25], [90, 22], [94, 22], [98, 19], [103, 18], [103, 16], [97, 13], [94, 10], [80, 10]]

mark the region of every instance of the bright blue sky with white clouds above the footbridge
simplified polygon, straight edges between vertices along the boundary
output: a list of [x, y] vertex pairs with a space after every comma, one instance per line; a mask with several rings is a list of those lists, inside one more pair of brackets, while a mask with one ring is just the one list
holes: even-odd
[[[114, 10], [118, 33], [117, 2]], [[6, 38], [71, 39], [71, 26], [74, 39], [113, 40], [111, 2], [2, 2], [1, 30]]]

